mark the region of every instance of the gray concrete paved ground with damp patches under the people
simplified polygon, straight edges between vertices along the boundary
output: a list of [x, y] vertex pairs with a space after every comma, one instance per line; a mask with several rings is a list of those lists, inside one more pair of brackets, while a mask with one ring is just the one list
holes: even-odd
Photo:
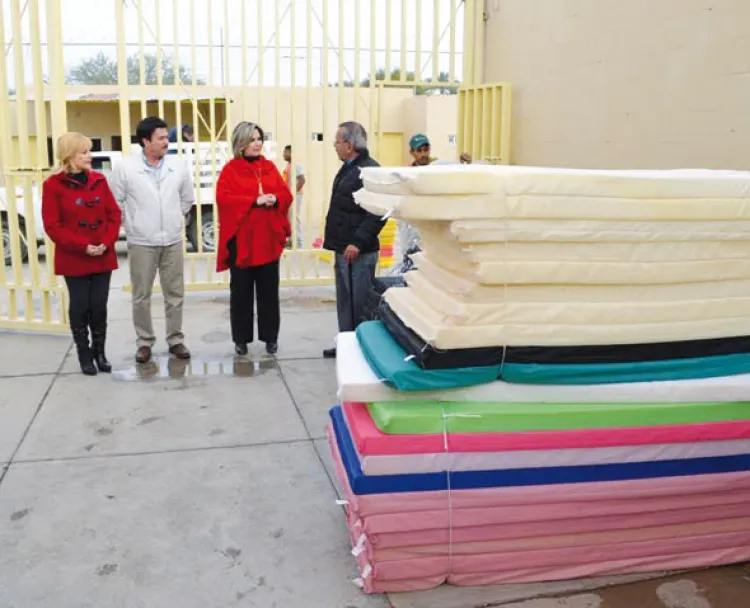
[[[67, 336], [0, 333], [0, 608], [748, 605], [742, 566], [599, 591], [631, 579], [362, 594], [324, 441], [330, 296], [284, 291], [276, 358], [233, 357], [226, 293], [188, 296], [189, 364], [160, 341], [135, 366], [117, 289], [111, 376], [78, 373]], [[153, 310], [163, 335], [158, 296]]]

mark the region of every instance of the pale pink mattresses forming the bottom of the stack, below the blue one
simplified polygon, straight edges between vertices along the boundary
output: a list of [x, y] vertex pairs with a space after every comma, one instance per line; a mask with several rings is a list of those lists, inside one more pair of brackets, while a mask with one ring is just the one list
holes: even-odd
[[749, 473], [355, 497], [331, 438], [329, 429], [361, 572], [357, 582], [366, 592], [750, 558]]

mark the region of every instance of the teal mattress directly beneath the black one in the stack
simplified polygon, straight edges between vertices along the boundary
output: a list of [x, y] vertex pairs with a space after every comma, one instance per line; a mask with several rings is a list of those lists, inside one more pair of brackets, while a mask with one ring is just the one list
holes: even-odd
[[714, 378], [750, 373], [750, 354], [624, 363], [505, 363], [486, 367], [422, 369], [381, 321], [357, 327], [357, 339], [372, 370], [400, 391], [436, 391], [494, 380], [517, 384], [613, 384]]

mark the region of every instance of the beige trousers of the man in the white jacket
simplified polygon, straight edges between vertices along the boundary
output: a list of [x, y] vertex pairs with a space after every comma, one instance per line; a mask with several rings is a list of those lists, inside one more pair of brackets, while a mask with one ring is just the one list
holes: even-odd
[[130, 282], [133, 285], [133, 325], [136, 344], [152, 347], [156, 342], [151, 320], [151, 293], [156, 272], [164, 294], [164, 315], [167, 321], [167, 344], [182, 344], [182, 305], [185, 300], [185, 268], [182, 243], [166, 247], [128, 245]]

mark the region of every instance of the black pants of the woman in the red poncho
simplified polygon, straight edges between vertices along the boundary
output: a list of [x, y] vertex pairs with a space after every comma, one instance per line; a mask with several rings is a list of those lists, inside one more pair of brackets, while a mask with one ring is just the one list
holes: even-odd
[[275, 343], [279, 339], [281, 312], [279, 306], [279, 262], [263, 266], [235, 266], [234, 242], [229, 245], [229, 315], [232, 341], [249, 344], [253, 341], [253, 316], [258, 300], [258, 338]]

